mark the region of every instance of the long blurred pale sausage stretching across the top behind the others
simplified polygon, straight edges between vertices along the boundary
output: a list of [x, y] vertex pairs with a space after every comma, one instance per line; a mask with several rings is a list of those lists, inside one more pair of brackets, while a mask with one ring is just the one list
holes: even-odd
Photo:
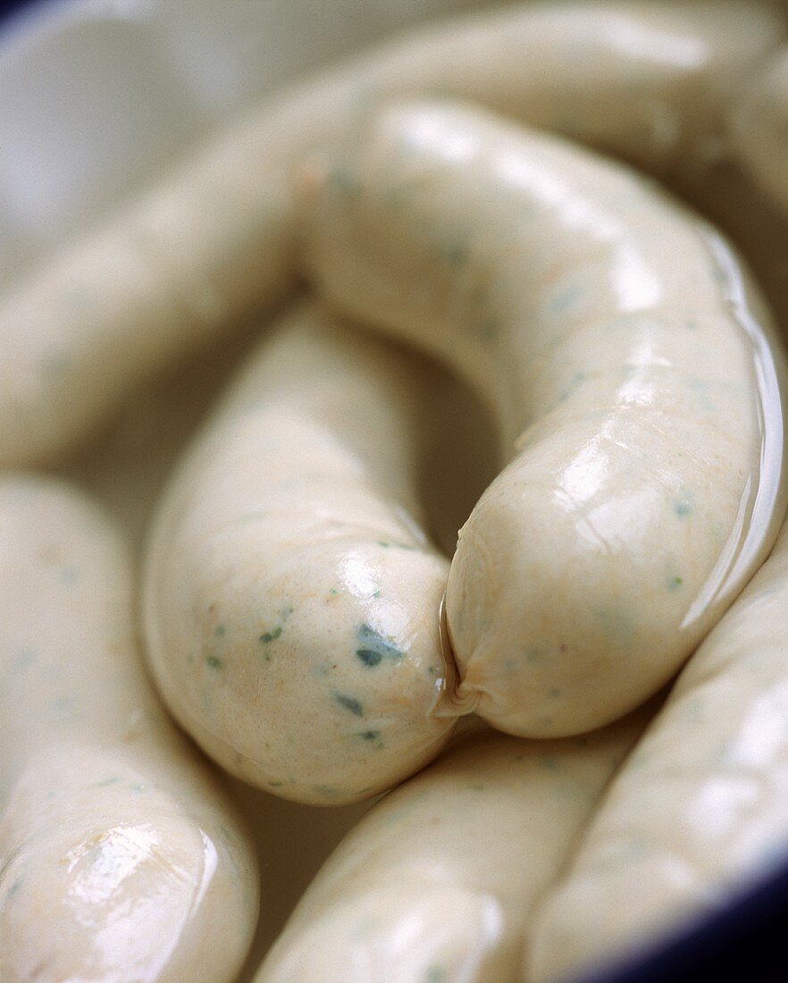
[[534, 4], [418, 30], [266, 99], [4, 291], [0, 463], [59, 458], [138, 383], [291, 289], [291, 169], [376, 100], [452, 94], [688, 177], [721, 152], [729, 94], [782, 33], [749, 0]]

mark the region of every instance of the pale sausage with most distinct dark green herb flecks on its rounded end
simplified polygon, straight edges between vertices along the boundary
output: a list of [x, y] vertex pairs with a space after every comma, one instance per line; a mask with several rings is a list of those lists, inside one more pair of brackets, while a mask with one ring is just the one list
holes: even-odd
[[253, 352], [159, 508], [144, 577], [159, 688], [224, 768], [286, 798], [366, 798], [452, 728], [434, 716], [451, 685], [448, 563], [416, 489], [428, 381], [302, 305]]

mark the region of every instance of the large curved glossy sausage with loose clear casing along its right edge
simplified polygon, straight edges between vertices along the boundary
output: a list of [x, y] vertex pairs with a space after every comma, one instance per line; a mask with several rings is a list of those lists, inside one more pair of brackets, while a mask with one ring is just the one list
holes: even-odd
[[[785, 510], [780, 354], [696, 215], [621, 165], [451, 103], [304, 174], [305, 263], [470, 378], [507, 467], [446, 592], [458, 710], [582, 732], [667, 682]], [[762, 429], [761, 429], [762, 427]]]

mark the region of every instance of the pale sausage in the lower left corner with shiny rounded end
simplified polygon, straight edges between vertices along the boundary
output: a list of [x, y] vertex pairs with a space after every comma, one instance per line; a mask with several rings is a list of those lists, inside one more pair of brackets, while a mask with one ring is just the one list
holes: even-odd
[[84, 496], [0, 479], [0, 977], [232, 983], [253, 847], [144, 676], [129, 559]]

